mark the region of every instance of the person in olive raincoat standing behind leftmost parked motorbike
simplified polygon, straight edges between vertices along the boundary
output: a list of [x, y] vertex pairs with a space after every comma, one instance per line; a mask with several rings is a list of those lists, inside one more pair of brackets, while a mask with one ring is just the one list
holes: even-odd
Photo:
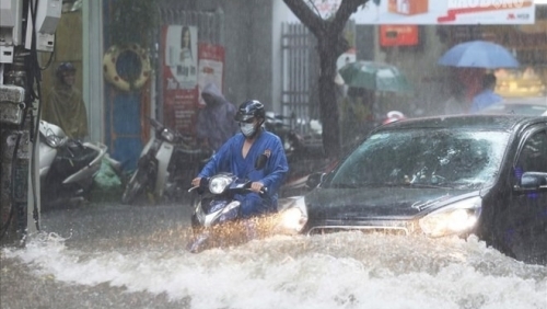
[[88, 112], [82, 93], [74, 87], [75, 67], [62, 62], [55, 71], [56, 81], [44, 101], [42, 119], [59, 126], [74, 139], [88, 137]]

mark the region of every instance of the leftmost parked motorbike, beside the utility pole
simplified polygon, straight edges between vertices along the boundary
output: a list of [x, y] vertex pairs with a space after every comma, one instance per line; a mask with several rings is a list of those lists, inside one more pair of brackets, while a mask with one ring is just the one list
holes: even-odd
[[39, 122], [39, 182], [43, 209], [89, 201], [93, 179], [98, 173], [107, 147], [81, 142], [62, 129]]

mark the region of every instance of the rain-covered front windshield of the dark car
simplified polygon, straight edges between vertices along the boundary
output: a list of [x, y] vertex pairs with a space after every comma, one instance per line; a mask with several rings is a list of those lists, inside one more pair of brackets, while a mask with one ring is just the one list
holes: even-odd
[[331, 187], [479, 188], [494, 181], [505, 131], [407, 129], [372, 135], [333, 173]]

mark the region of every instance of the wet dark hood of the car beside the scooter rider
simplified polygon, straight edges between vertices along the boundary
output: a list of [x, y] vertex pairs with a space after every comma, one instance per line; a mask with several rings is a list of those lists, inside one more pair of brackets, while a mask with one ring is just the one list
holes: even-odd
[[316, 188], [305, 203], [311, 219], [408, 219], [477, 195], [453, 188]]

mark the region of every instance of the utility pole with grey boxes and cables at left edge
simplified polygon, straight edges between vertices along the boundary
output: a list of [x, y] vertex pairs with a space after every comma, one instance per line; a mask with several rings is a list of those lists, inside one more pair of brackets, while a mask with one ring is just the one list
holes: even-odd
[[0, 244], [39, 229], [37, 52], [53, 52], [61, 0], [0, 0]]

